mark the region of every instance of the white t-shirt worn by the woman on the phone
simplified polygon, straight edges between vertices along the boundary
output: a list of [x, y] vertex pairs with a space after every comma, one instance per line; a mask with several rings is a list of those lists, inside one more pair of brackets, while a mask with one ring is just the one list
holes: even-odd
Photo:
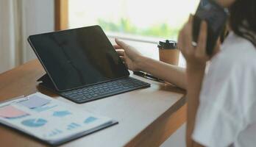
[[256, 146], [256, 48], [233, 32], [202, 85], [193, 140], [203, 146]]

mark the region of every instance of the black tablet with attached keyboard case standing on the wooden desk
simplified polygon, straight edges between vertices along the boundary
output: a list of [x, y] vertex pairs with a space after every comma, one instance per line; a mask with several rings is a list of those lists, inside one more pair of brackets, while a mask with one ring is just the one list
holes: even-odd
[[125, 93], [149, 83], [129, 77], [100, 26], [29, 36], [46, 75], [40, 85], [77, 103]]

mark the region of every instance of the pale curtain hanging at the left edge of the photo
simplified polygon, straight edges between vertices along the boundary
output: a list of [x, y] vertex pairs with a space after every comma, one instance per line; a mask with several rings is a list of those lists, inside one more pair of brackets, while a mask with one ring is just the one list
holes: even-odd
[[22, 1], [0, 0], [0, 73], [23, 58]]

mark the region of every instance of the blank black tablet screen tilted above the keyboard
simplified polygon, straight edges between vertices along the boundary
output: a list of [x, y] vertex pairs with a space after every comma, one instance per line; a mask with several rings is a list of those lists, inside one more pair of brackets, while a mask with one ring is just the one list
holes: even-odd
[[32, 35], [29, 43], [60, 91], [129, 76], [100, 26]]

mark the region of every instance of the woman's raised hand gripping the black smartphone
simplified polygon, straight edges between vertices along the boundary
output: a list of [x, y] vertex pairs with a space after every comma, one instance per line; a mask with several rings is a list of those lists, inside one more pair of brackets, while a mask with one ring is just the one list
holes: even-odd
[[206, 54], [207, 23], [202, 21], [197, 46], [192, 45], [193, 16], [189, 17], [188, 23], [179, 32], [178, 49], [187, 61], [188, 69], [205, 70], [205, 65], [210, 57]]

